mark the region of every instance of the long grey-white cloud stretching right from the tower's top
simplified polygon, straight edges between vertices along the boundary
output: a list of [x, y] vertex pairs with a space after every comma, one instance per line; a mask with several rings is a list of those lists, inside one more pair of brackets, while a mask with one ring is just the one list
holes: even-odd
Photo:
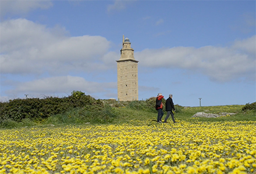
[[250, 78], [255, 80], [255, 36], [235, 41], [230, 48], [175, 47], [145, 49], [136, 53], [140, 66], [184, 68], [207, 75], [214, 81]]

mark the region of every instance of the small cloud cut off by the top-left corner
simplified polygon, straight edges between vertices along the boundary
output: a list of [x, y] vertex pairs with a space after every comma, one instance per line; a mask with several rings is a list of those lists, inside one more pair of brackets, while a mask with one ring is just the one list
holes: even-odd
[[5, 16], [6, 14], [26, 14], [31, 10], [35, 9], [48, 9], [51, 8], [51, 1], [0, 1], [1, 4], [1, 16]]

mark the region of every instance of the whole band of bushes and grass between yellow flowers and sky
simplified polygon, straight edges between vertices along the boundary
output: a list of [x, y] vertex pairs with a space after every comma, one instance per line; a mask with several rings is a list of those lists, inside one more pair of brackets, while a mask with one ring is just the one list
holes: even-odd
[[[163, 103], [165, 103], [163, 101]], [[256, 103], [256, 102], [255, 102]], [[175, 105], [177, 121], [256, 121], [255, 103], [236, 106], [183, 107]], [[191, 118], [197, 112], [237, 113], [219, 118]], [[165, 113], [166, 115], [166, 113]], [[165, 117], [163, 115], [163, 118]], [[96, 100], [80, 91], [68, 97], [15, 99], [0, 103], [0, 128], [70, 124], [120, 124], [148, 120], [156, 124], [155, 97], [133, 102]], [[169, 118], [171, 123], [171, 119]]]

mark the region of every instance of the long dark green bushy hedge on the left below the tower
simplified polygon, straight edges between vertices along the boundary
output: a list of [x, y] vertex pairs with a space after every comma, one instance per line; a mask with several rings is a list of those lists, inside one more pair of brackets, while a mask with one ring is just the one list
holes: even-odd
[[46, 97], [45, 99], [15, 99], [0, 103], [0, 124], [4, 120], [20, 122], [22, 119], [44, 120], [51, 115], [63, 114], [72, 108], [82, 108], [93, 105], [104, 107], [101, 100], [84, 95], [83, 92], [73, 91], [71, 96], [58, 98]]

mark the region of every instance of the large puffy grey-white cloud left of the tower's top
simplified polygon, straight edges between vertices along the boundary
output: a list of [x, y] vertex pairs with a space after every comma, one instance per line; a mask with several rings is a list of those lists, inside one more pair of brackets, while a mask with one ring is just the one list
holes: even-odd
[[108, 68], [103, 59], [111, 43], [104, 37], [68, 37], [65, 28], [47, 28], [26, 19], [4, 21], [0, 30], [2, 74], [59, 74]]

